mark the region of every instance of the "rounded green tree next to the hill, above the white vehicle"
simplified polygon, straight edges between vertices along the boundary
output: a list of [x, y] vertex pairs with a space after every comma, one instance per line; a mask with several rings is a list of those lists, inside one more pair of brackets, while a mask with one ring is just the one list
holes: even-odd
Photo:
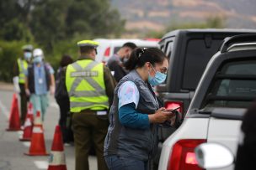
[[74, 0], [67, 11], [67, 34], [91, 33], [96, 36], [119, 35], [125, 21], [117, 10], [111, 9], [108, 0]]

